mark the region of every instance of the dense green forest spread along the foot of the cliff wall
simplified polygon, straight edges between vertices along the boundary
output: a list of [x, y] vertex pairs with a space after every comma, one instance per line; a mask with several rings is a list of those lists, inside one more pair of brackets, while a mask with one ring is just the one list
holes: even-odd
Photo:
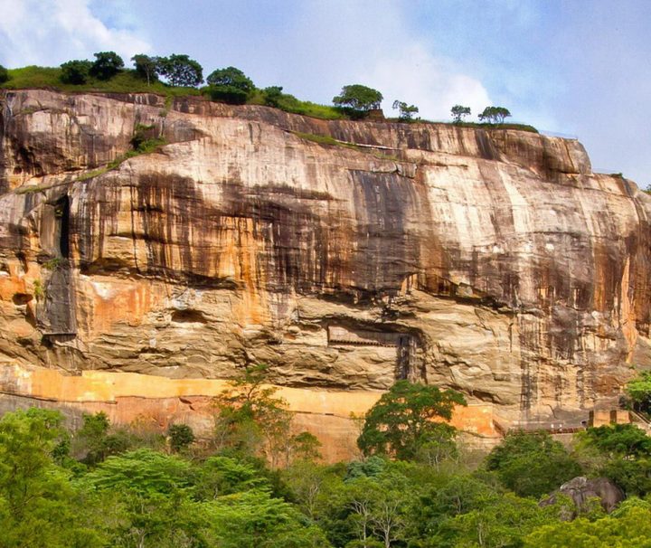
[[[570, 449], [516, 431], [479, 454], [437, 420], [460, 394], [401, 381], [359, 420], [359, 458], [326, 465], [264, 373], [215, 398], [205, 439], [101, 412], [75, 431], [57, 411], [6, 413], [0, 546], [651, 546], [651, 439], [633, 425], [585, 430]], [[627, 500], [610, 515], [595, 499], [539, 505], [581, 474]]]

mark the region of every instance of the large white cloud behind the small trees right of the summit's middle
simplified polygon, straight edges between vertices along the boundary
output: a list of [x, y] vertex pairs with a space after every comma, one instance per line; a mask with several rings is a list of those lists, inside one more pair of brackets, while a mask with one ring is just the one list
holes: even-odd
[[344, 85], [363, 84], [382, 92], [387, 116], [397, 115], [392, 103], [399, 99], [419, 107], [421, 118], [442, 120], [456, 104], [469, 106], [473, 116], [491, 104], [482, 82], [442, 55], [434, 36], [414, 36], [400, 1], [380, 5], [306, 0], [264, 47], [258, 37], [249, 46], [238, 43], [237, 33], [231, 41], [240, 52], [242, 45], [250, 48], [257, 81], [280, 82], [301, 99], [329, 103]]

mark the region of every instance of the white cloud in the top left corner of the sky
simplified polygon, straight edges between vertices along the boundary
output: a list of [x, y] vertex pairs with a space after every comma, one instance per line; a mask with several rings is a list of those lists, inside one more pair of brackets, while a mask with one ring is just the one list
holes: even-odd
[[11, 68], [56, 66], [101, 51], [118, 52], [127, 61], [151, 50], [131, 31], [102, 23], [90, 0], [0, 0], [0, 14], [0, 62]]

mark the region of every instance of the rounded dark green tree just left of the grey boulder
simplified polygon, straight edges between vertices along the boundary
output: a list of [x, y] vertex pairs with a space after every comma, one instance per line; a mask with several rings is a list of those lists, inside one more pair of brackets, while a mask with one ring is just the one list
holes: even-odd
[[542, 496], [580, 476], [580, 464], [544, 431], [510, 432], [486, 458], [505, 487], [519, 496]]

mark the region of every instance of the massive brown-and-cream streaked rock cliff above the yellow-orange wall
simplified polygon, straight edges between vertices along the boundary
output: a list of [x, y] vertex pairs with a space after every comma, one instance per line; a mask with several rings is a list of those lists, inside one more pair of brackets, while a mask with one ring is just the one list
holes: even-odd
[[[526, 422], [616, 402], [636, 346], [646, 359], [651, 200], [576, 140], [153, 95], [0, 101], [15, 363], [214, 379], [264, 362], [351, 397], [409, 377]], [[135, 131], [166, 145], [114, 162]]]

